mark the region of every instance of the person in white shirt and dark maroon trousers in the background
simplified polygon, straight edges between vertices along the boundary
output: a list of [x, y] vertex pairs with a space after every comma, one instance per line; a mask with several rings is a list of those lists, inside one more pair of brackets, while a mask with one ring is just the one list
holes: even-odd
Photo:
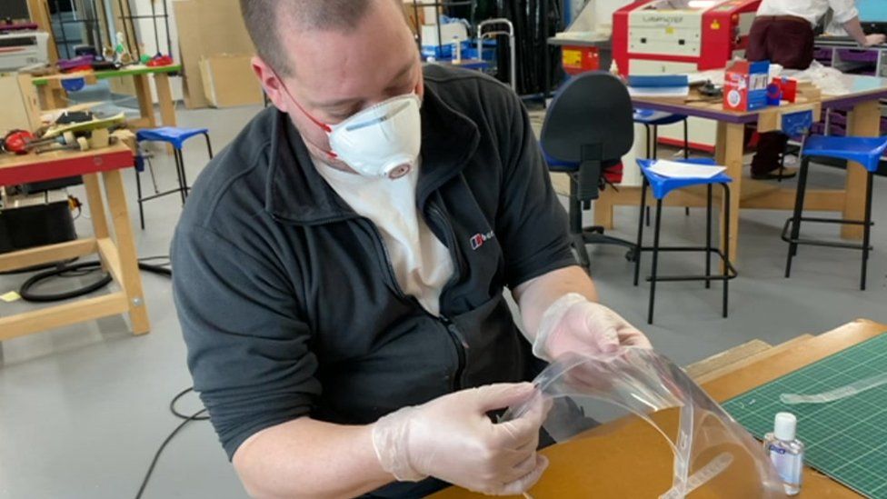
[[[813, 29], [829, 7], [834, 21], [843, 25], [859, 45], [884, 43], [884, 35], [865, 35], [862, 31], [853, 0], [763, 0], [752, 25], [746, 57], [750, 61], [769, 60], [786, 69], [807, 69], [813, 62]], [[752, 178], [778, 180], [794, 176], [794, 172], [776, 172], [787, 143], [788, 136], [779, 132], [762, 134], [752, 159]]]

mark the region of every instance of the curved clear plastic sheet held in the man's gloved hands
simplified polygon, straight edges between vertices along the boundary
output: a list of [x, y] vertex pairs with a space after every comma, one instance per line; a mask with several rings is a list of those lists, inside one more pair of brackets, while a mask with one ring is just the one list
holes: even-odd
[[[575, 446], [570, 454], [571, 464], [582, 457], [576, 454], [588, 452], [606, 453], [610, 464], [620, 454], [626, 461], [615, 464], [613, 467], [621, 473], [611, 476], [591, 479], [555, 473], [559, 480], [573, 481], [573, 490], [590, 487], [591, 490], [577, 491], [582, 496], [609, 496], [607, 491], [622, 496], [627, 488], [619, 489], [619, 484], [606, 482], [635, 476], [649, 493], [644, 497], [784, 497], [782, 482], [762, 444], [661, 354], [640, 348], [625, 348], [598, 357], [567, 354], [543, 371], [535, 384], [540, 390], [537, 396], [553, 399], [544, 428], [555, 442], [598, 438], [590, 445]], [[522, 414], [528, 404], [510, 408], [503, 419]], [[601, 426], [610, 422], [613, 424]], [[650, 425], [664, 437], [671, 454], [655, 454], [643, 448], [623, 452], [619, 446], [612, 452], [606, 445], [594, 446], [608, 442], [612, 447], [614, 441], [625, 446], [647, 443], [643, 446], [650, 447], [651, 441], [658, 444], [655, 438], [638, 437], [644, 431], [649, 433]], [[619, 434], [620, 431], [624, 433]], [[667, 466], [670, 455], [673, 476], [669, 484], [669, 471], [663, 470], [663, 462]], [[553, 468], [557, 465], [553, 460]], [[658, 480], [657, 473], [662, 475]], [[582, 481], [587, 483], [577, 483]], [[628, 488], [636, 492], [638, 487]]]

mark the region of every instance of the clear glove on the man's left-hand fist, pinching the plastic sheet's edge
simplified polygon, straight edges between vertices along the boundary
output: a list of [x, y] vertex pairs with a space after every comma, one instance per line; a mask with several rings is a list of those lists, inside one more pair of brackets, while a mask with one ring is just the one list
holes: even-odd
[[[404, 482], [434, 476], [474, 492], [523, 494], [548, 460], [536, 454], [539, 429], [551, 405], [533, 384], [492, 384], [405, 407], [373, 427], [384, 470]], [[521, 417], [495, 424], [486, 413], [530, 403]]]

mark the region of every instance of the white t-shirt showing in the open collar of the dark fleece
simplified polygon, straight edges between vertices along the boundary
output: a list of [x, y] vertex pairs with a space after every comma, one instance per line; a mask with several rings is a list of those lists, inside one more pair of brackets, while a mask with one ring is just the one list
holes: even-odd
[[314, 167], [358, 215], [379, 228], [404, 293], [414, 296], [429, 314], [440, 315], [441, 292], [453, 276], [453, 258], [418, 214], [419, 168], [390, 180], [343, 172], [317, 160]]

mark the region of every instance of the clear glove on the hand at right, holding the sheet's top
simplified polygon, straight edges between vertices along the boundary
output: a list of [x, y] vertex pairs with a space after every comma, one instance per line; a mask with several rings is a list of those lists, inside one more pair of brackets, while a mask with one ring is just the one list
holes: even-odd
[[582, 294], [564, 294], [545, 311], [533, 341], [533, 354], [553, 361], [574, 352], [596, 356], [620, 346], [653, 348], [650, 340], [613, 310]]

